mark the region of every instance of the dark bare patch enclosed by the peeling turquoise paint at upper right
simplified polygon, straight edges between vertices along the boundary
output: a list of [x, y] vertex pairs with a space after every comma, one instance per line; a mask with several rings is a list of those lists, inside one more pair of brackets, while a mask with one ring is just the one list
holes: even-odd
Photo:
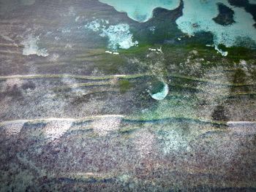
[[228, 26], [233, 23], [236, 23], [234, 20], [234, 11], [230, 7], [225, 6], [225, 4], [218, 3], [219, 15], [216, 18], [213, 18], [215, 23], [218, 23], [222, 26]]

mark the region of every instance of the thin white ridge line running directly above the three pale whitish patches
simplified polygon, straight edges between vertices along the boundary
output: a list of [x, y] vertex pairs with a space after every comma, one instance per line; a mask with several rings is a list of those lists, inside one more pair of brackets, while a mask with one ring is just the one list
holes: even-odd
[[5, 126], [8, 124], [12, 124], [12, 123], [26, 123], [26, 122], [35, 122], [35, 121], [46, 121], [46, 122], [50, 122], [50, 121], [79, 121], [79, 120], [90, 120], [90, 119], [95, 119], [95, 118], [124, 118], [124, 115], [95, 115], [95, 116], [89, 116], [86, 118], [42, 118], [42, 119], [20, 119], [20, 120], [6, 120], [6, 121], [2, 121], [0, 122], [0, 126]]

